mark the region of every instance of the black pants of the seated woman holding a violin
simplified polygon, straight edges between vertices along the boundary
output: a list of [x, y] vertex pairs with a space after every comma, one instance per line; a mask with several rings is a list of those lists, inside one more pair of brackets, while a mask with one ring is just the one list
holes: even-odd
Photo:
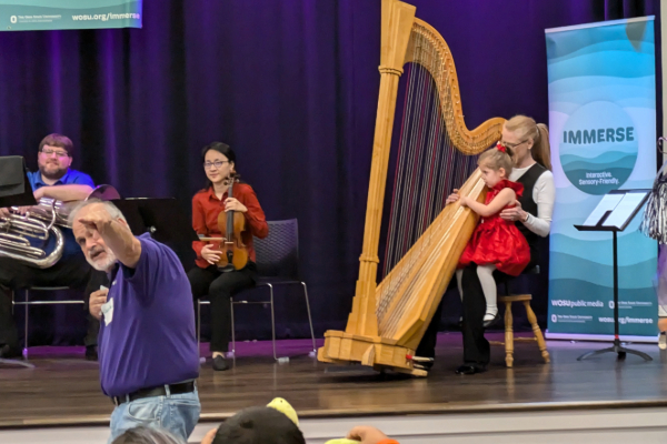
[[[242, 270], [221, 273], [215, 265], [195, 266], [188, 272], [195, 300], [208, 295], [211, 302], [211, 352], [228, 352], [231, 336], [231, 296], [255, 285], [257, 266], [249, 262]], [[197, 305], [196, 305], [197, 306]]]

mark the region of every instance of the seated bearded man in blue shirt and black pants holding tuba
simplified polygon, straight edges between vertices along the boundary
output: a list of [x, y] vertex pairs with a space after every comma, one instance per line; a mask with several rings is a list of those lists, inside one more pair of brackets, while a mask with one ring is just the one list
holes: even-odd
[[[28, 173], [34, 199], [51, 198], [59, 201], [84, 200], [94, 186], [88, 174], [70, 169], [72, 141], [61, 134], [49, 134], [39, 144], [37, 162], [39, 171]], [[23, 211], [24, 212], [24, 211]], [[0, 216], [9, 214], [0, 209]], [[82, 289], [91, 268], [77, 246], [71, 230], [62, 229], [64, 250], [62, 258], [48, 269], [37, 269], [9, 258], [0, 258], [0, 357], [21, 355], [19, 336], [11, 313], [9, 290], [28, 286], [71, 286]], [[46, 250], [53, 249], [53, 239]], [[98, 321], [90, 316], [86, 337], [86, 356], [97, 360]]]

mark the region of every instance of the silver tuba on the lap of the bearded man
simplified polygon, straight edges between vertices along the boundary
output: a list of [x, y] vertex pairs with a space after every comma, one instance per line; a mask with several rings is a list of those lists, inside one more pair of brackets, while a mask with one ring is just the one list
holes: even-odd
[[[111, 185], [96, 188], [86, 200], [120, 199]], [[42, 198], [37, 205], [30, 206], [26, 215], [10, 214], [0, 216], [0, 258], [10, 258], [38, 269], [48, 269], [62, 256], [64, 238], [62, 228], [71, 229], [68, 219], [79, 201], [62, 202]], [[53, 238], [53, 251], [47, 254], [42, 248], [32, 246], [30, 240], [42, 244]]]

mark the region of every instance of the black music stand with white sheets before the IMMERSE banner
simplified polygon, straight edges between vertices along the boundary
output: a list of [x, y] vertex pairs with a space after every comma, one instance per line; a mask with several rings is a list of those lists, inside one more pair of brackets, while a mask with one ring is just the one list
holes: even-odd
[[618, 353], [619, 360], [625, 359], [626, 353], [630, 353], [644, 357], [645, 361], [653, 361], [653, 359], [644, 352], [626, 349], [620, 345], [618, 333], [618, 246], [616, 235], [619, 231], [624, 231], [635, 215], [637, 215], [639, 209], [646, 203], [649, 193], [650, 190], [610, 191], [593, 210], [583, 225], [575, 225], [579, 231], [610, 231], [614, 239], [614, 345], [607, 349], [584, 353], [581, 356], [577, 357], [577, 361], [583, 361], [587, 357], [603, 353]]

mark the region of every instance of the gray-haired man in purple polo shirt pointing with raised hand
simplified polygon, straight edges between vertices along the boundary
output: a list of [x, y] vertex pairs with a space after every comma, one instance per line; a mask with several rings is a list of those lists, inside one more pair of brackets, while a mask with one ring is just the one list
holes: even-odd
[[111, 282], [90, 296], [90, 313], [101, 321], [102, 392], [116, 404], [110, 442], [142, 423], [187, 441], [201, 410], [199, 353], [192, 292], [179, 259], [149, 234], [133, 236], [110, 202], [86, 201], [70, 221], [88, 262]]

